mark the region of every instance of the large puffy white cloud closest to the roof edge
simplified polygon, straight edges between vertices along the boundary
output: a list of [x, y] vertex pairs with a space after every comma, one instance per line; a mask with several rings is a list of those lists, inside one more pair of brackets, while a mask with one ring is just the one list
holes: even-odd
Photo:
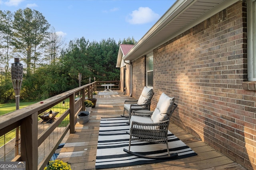
[[131, 24], [149, 23], [160, 18], [158, 14], [148, 7], [140, 7], [138, 10], [132, 11], [132, 14], [129, 14], [129, 16], [127, 21]]

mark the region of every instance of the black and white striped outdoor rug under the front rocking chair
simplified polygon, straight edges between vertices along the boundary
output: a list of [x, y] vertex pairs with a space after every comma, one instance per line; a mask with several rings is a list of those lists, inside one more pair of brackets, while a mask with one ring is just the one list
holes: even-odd
[[[190, 147], [180, 141], [180, 139], [169, 131], [169, 150], [171, 154], [178, 153], [177, 157], [172, 159], [146, 159], [132, 156], [131, 154], [123, 151], [124, 148], [128, 149], [129, 146], [130, 135], [126, 133], [129, 131], [129, 125], [126, 123], [127, 121], [128, 118], [125, 117], [100, 119], [100, 130], [95, 162], [96, 169], [151, 164], [196, 155]], [[166, 144], [155, 144], [144, 141], [132, 141], [131, 151], [146, 155], [154, 154], [154, 156], [168, 154]]]

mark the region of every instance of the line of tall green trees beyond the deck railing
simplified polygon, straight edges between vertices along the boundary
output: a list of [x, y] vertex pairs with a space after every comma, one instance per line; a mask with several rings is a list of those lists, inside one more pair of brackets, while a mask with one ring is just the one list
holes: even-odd
[[24, 67], [20, 99], [43, 100], [82, 85], [89, 78], [97, 81], [119, 80], [116, 60], [120, 44], [135, 44], [134, 38], [116, 42], [102, 39], [88, 41], [84, 37], [65, 44], [42, 13], [26, 8], [0, 10], [0, 103], [15, 100], [10, 61], [20, 58]]

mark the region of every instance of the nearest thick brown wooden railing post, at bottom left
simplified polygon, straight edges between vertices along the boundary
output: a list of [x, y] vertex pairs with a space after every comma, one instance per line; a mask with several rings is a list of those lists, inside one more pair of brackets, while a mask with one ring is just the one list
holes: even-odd
[[22, 119], [20, 125], [21, 160], [26, 162], [26, 170], [36, 170], [38, 166], [38, 112]]

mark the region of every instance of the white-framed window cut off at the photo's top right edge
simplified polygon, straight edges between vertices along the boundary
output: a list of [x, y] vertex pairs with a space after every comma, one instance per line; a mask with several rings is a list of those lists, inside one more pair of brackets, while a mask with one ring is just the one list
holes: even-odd
[[247, 71], [248, 80], [256, 81], [256, 0], [247, 0]]

